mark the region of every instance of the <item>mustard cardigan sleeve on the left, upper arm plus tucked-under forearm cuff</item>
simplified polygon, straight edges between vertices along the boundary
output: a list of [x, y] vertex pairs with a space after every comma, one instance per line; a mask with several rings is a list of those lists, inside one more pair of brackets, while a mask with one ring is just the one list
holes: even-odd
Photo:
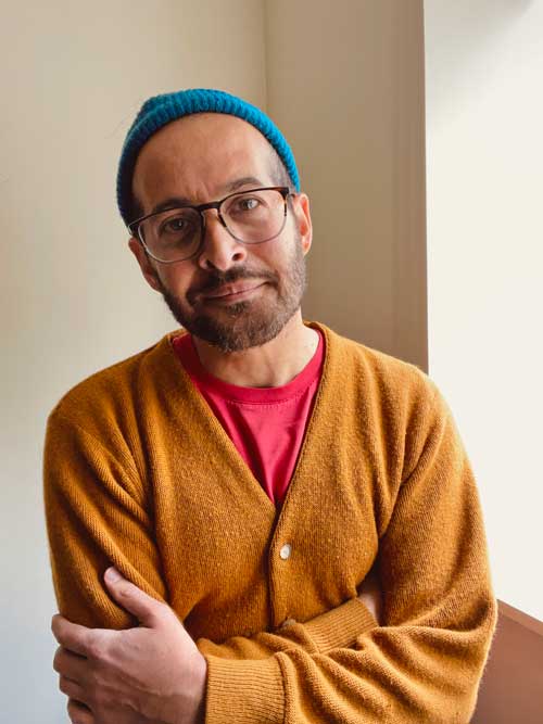
[[[119, 630], [138, 622], [109, 597], [103, 583], [109, 566], [160, 601], [167, 602], [168, 592], [136, 466], [122, 445], [109, 447], [54, 410], [45, 444], [43, 501], [60, 613], [81, 625]], [[348, 646], [375, 625], [368, 608], [353, 599], [303, 624], [220, 645], [199, 639], [198, 646], [220, 658], [265, 659], [290, 648]]]

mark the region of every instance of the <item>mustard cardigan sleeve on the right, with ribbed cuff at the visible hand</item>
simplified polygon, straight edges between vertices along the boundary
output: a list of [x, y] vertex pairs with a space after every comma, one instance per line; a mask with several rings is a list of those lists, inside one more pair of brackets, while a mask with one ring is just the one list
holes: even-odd
[[429, 418], [380, 539], [382, 625], [319, 652], [206, 655], [206, 724], [470, 720], [497, 607], [472, 470], [437, 388]]

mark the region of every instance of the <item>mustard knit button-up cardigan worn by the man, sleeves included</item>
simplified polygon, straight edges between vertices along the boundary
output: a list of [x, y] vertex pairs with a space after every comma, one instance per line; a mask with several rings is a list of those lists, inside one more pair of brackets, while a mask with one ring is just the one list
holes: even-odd
[[[59, 610], [137, 625], [104, 589], [112, 563], [167, 601], [207, 661], [207, 724], [467, 724], [496, 601], [453, 417], [417, 367], [313, 326], [323, 379], [280, 512], [173, 334], [59, 403], [43, 488]], [[382, 625], [356, 598], [374, 564]]]

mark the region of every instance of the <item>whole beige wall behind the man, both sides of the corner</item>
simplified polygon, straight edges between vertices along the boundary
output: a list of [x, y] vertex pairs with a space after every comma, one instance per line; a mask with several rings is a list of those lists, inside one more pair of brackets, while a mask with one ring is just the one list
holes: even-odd
[[267, 106], [313, 203], [306, 316], [425, 367], [420, 4], [2, 7], [2, 721], [64, 721], [41, 499], [47, 414], [75, 382], [175, 326], [140, 278], [115, 206], [137, 109], [195, 86]]

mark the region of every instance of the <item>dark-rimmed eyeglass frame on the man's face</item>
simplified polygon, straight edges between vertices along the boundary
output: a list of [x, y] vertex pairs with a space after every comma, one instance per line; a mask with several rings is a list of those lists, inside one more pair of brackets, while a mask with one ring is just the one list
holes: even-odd
[[[228, 201], [228, 199], [231, 199], [232, 196], [238, 196], [242, 195], [244, 193], [252, 193], [253, 191], [278, 191], [281, 196], [282, 201], [285, 204], [285, 214], [283, 214], [283, 221], [281, 224], [281, 228], [279, 231], [274, 234], [273, 237], [269, 237], [268, 239], [263, 239], [262, 241], [243, 241], [242, 239], [239, 239], [233, 234], [230, 229], [228, 228], [225, 219], [223, 218], [223, 215], [220, 213], [220, 206], [224, 204], [225, 201]], [[135, 239], [139, 241], [139, 243], [143, 246], [146, 254], [149, 254], [149, 256], [154, 259], [155, 262], [159, 262], [159, 264], [177, 264], [178, 262], [187, 262], [188, 259], [191, 259], [200, 254], [202, 251], [202, 246], [204, 243], [205, 239], [205, 215], [203, 212], [207, 211], [209, 208], [216, 208], [217, 209], [217, 216], [218, 220], [223, 225], [223, 227], [228, 231], [230, 237], [232, 239], [236, 239], [236, 241], [239, 241], [241, 244], [248, 244], [249, 246], [252, 246], [253, 244], [263, 244], [266, 241], [273, 241], [274, 239], [277, 239], [277, 237], [281, 233], [281, 231], [285, 229], [285, 224], [287, 221], [287, 207], [288, 207], [288, 199], [289, 196], [294, 196], [295, 193], [293, 193], [288, 186], [265, 186], [265, 187], [260, 187], [257, 189], [248, 189], [241, 190], [241, 191], [232, 191], [232, 193], [229, 193], [226, 195], [224, 199], [220, 199], [219, 201], [207, 201], [205, 204], [198, 204], [197, 206], [193, 206], [191, 204], [181, 204], [181, 205], [173, 205], [168, 206], [167, 208], [161, 208], [160, 212], [153, 212], [152, 214], [146, 214], [144, 216], [140, 216], [139, 218], [135, 219], [134, 221], [130, 221], [127, 224], [127, 229], [128, 231], [132, 234]], [[198, 244], [198, 247], [190, 256], [184, 256], [182, 258], [179, 259], [159, 259], [156, 256], [153, 256], [153, 254], [149, 251], [146, 242], [141, 238], [139, 233], [139, 227], [143, 221], [147, 221], [147, 219], [152, 218], [153, 216], [159, 216], [160, 214], [165, 214], [166, 212], [174, 212], [174, 211], [181, 211], [184, 208], [192, 208], [193, 211], [198, 212], [200, 215], [200, 224], [201, 224], [201, 238], [200, 238], [200, 243]]]

